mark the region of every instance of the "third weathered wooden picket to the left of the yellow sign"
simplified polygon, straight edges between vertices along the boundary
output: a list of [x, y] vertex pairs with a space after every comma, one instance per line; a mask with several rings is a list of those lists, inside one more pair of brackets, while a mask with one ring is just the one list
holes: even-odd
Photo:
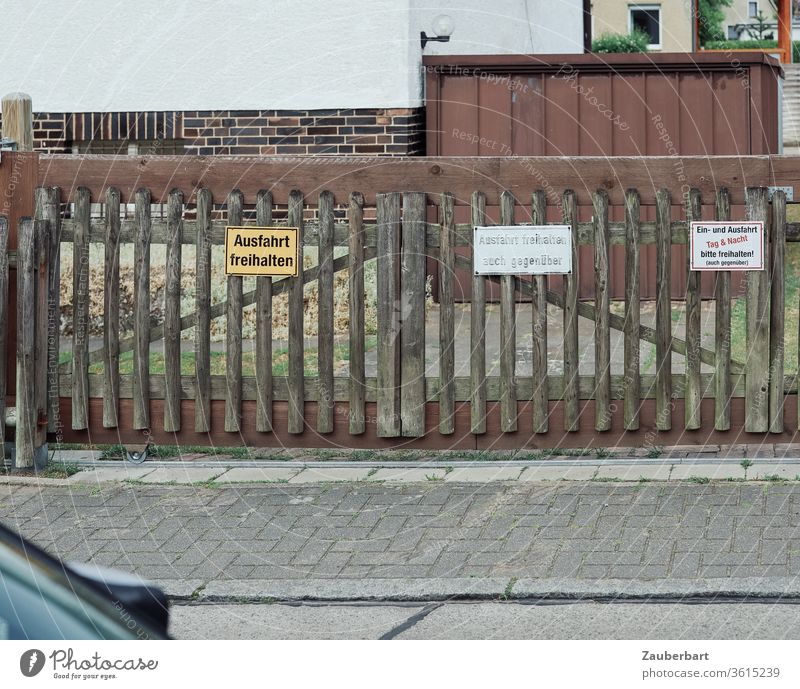
[[150, 428], [150, 191], [139, 189], [135, 202], [138, 232], [133, 245], [133, 428]]

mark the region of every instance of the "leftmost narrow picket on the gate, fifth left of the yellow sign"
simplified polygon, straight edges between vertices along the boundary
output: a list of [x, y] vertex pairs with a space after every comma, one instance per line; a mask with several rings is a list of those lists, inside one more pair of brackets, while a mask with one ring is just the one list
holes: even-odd
[[81, 187], [75, 196], [72, 245], [72, 428], [89, 427], [89, 217], [91, 195]]

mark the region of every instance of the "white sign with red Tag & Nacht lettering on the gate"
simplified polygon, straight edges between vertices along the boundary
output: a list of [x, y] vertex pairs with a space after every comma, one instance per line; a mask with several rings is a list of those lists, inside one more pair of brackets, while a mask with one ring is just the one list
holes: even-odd
[[764, 223], [693, 222], [691, 270], [764, 270]]

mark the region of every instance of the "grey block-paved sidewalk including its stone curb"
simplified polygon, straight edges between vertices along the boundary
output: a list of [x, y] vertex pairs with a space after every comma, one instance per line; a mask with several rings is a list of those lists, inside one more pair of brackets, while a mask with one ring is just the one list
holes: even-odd
[[800, 485], [0, 486], [0, 521], [176, 596], [800, 596]]

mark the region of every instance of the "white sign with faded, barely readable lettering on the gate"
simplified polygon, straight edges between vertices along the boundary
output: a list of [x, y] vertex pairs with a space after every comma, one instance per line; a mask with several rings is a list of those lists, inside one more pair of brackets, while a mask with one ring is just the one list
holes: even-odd
[[546, 275], [572, 272], [569, 225], [476, 227], [472, 238], [476, 275]]

